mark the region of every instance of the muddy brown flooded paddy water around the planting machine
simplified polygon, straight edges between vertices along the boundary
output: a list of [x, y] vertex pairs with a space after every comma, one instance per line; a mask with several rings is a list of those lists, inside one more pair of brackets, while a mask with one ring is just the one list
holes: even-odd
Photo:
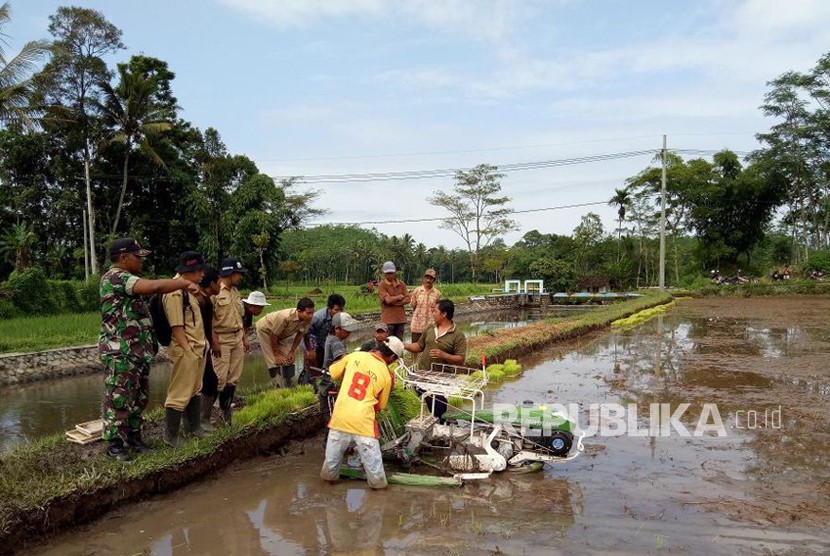
[[[586, 438], [576, 460], [460, 489], [373, 492], [320, 481], [317, 437], [30, 553], [826, 554], [828, 356], [830, 299], [688, 300], [525, 358], [518, 379], [490, 392], [488, 403], [578, 404], [582, 426], [605, 435]], [[638, 435], [614, 436], [619, 420], [592, 417], [592, 404], [636, 411], [622, 426]], [[692, 436], [712, 411], [723, 435]]]

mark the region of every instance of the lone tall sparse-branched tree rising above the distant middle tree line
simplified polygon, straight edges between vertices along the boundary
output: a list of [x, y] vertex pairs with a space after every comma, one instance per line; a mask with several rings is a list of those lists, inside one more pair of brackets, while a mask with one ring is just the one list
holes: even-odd
[[467, 247], [470, 257], [470, 274], [476, 280], [478, 256], [482, 247], [505, 233], [518, 230], [511, 220], [510, 197], [499, 196], [501, 178], [498, 167], [480, 164], [468, 171], [455, 174], [453, 193], [436, 191], [429, 203], [450, 213], [441, 227], [458, 234]]

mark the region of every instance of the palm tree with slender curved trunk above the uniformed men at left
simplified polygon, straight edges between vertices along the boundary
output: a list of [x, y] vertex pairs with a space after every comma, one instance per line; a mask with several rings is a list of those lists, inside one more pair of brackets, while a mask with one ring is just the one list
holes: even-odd
[[104, 121], [112, 126], [113, 133], [109, 142], [124, 145], [124, 174], [111, 233], [118, 229], [121, 209], [124, 207], [130, 154], [133, 148], [138, 146], [150, 160], [163, 168], [166, 167], [153, 142], [173, 127], [166, 119], [167, 111], [155, 101], [155, 94], [158, 92], [155, 81], [147, 79], [141, 73], [131, 72], [123, 65], [118, 67], [118, 73], [120, 81], [117, 87], [101, 83], [104, 101], [96, 103], [104, 115]]

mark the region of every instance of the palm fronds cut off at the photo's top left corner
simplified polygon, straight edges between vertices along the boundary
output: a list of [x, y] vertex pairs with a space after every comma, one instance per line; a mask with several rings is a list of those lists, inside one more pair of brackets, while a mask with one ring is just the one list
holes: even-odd
[[[0, 31], [11, 19], [9, 3], [0, 6]], [[2, 37], [2, 33], [0, 33]], [[29, 94], [32, 90], [32, 74], [51, 46], [47, 41], [31, 41], [10, 60], [3, 51], [0, 40], [0, 126], [8, 122], [21, 122], [31, 127], [32, 108]]]

